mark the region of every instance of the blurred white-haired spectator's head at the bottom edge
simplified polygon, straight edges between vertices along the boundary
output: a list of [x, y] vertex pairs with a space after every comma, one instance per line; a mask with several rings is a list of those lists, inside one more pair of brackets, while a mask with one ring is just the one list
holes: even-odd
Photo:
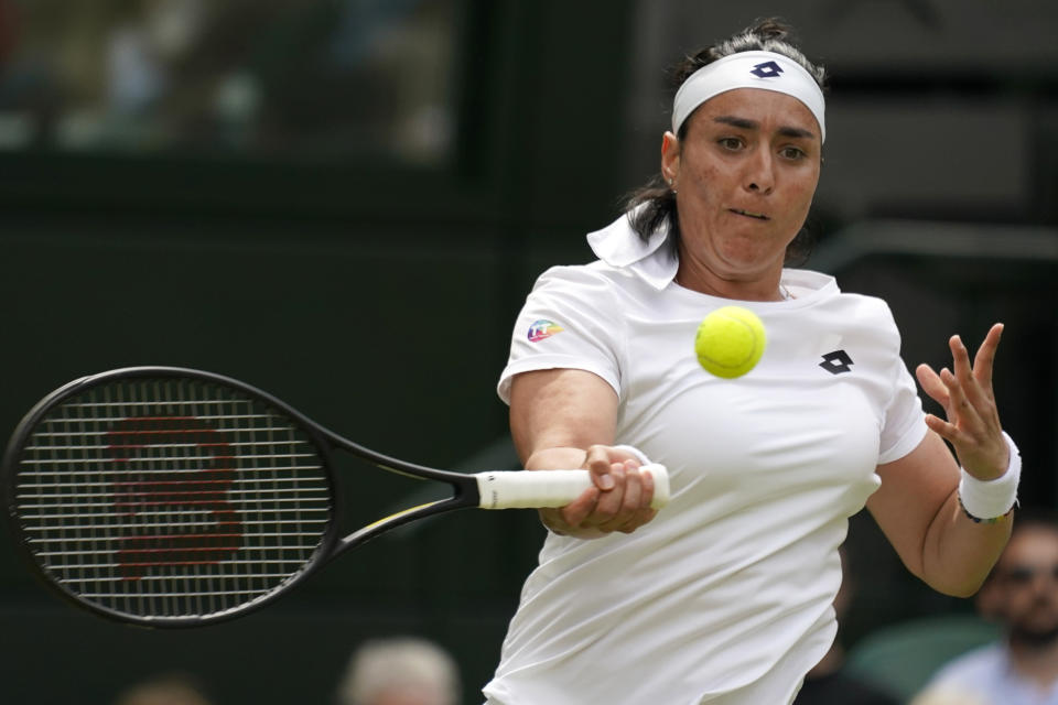
[[456, 705], [455, 661], [415, 637], [365, 642], [354, 652], [338, 688], [339, 705]]

